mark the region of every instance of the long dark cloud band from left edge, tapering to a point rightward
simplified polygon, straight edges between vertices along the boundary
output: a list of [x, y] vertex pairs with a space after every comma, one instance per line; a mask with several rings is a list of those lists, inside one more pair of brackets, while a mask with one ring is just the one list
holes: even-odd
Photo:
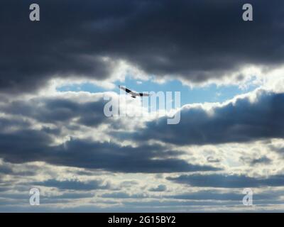
[[178, 159], [178, 155], [182, 153], [176, 151], [174, 155], [172, 151], [160, 145], [141, 145], [133, 148], [115, 143], [71, 139], [62, 145], [52, 146], [52, 141], [50, 135], [43, 131], [0, 133], [0, 157], [6, 162], [44, 161], [53, 165], [113, 172], [219, 170], [209, 165], [191, 165], [185, 160]]

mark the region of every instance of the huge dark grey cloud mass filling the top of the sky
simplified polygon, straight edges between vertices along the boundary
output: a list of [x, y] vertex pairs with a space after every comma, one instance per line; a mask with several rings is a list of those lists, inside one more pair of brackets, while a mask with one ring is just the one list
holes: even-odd
[[[283, 62], [281, 0], [40, 1], [40, 21], [28, 19], [33, 1], [1, 1], [0, 89], [30, 92], [50, 77], [106, 79], [126, 60], [148, 74], [192, 82], [222, 77], [246, 64]], [[241, 75], [240, 75], [241, 77]]]

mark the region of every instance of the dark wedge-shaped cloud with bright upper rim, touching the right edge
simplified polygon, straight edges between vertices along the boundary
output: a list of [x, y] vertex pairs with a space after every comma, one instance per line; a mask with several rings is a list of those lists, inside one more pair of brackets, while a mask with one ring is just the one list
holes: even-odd
[[[182, 109], [180, 123], [168, 125], [167, 118], [150, 121], [132, 136], [136, 140], [162, 140], [178, 145], [248, 142], [284, 137], [284, 94], [258, 91], [257, 100], [214, 107], [209, 115], [201, 107]], [[118, 135], [119, 136], [119, 135]], [[122, 136], [122, 135], [121, 135]], [[126, 136], [126, 135], [123, 135]]]

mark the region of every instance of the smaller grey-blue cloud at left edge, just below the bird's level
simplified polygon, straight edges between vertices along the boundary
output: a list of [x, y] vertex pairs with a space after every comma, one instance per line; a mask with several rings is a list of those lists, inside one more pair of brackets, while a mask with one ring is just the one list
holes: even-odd
[[[79, 124], [98, 126], [101, 123], [110, 123], [114, 119], [104, 116], [105, 103], [106, 101], [103, 99], [80, 103], [67, 98], [35, 98], [26, 101], [12, 101], [6, 105], [3, 104], [1, 111], [6, 114], [33, 118], [41, 123], [62, 123], [65, 126], [70, 126], [68, 123], [76, 118], [76, 122]], [[6, 121], [1, 121], [0, 118], [0, 126], [2, 124], [5, 126], [5, 123], [9, 123]], [[52, 129], [45, 127], [43, 130], [47, 133], [60, 133], [60, 128]]]

